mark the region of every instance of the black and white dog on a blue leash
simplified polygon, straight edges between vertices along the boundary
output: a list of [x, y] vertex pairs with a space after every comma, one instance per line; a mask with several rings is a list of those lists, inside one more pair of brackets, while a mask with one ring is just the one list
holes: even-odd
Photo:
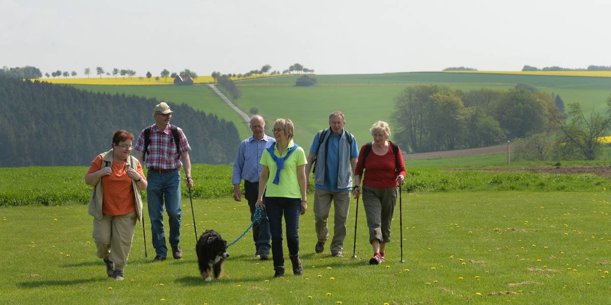
[[205, 281], [210, 282], [210, 270], [214, 271], [214, 278], [221, 276], [224, 260], [229, 257], [227, 241], [214, 230], [207, 230], [197, 240], [197, 264], [199, 272]]

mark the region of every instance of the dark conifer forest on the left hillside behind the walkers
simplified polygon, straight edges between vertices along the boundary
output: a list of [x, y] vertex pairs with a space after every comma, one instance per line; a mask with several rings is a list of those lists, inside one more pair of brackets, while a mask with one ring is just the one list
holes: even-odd
[[[0, 76], [0, 167], [87, 165], [111, 148], [112, 132], [154, 123], [156, 99], [91, 93], [65, 85]], [[232, 122], [169, 103], [172, 124], [189, 139], [194, 163], [230, 163], [240, 138]]]

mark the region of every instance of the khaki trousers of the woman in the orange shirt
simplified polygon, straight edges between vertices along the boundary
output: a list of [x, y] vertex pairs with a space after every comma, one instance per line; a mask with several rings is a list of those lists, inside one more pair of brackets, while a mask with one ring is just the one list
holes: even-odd
[[93, 218], [93, 240], [98, 249], [96, 255], [115, 264], [115, 270], [123, 271], [130, 255], [131, 241], [136, 229], [136, 212], [127, 215], [103, 215]]

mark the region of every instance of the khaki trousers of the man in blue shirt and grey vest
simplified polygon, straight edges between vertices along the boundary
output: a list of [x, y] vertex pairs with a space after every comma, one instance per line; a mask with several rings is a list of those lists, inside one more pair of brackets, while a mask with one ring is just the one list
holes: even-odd
[[343, 240], [346, 238], [346, 220], [350, 208], [350, 191], [330, 192], [316, 188], [314, 193], [314, 224], [316, 227], [316, 237], [319, 242], [326, 242], [329, 238], [327, 228], [327, 218], [331, 210], [331, 201], [334, 204], [334, 228], [333, 239], [331, 240], [331, 253], [341, 252]]

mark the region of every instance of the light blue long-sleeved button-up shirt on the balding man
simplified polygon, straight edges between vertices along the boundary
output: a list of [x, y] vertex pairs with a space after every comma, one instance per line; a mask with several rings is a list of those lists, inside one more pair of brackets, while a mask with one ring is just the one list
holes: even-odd
[[263, 135], [261, 140], [249, 137], [240, 143], [238, 154], [233, 162], [232, 184], [240, 184], [240, 180], [258, 182], [262, 165], [259, 164], [266, 146], [276, 142], [276, 139]]

